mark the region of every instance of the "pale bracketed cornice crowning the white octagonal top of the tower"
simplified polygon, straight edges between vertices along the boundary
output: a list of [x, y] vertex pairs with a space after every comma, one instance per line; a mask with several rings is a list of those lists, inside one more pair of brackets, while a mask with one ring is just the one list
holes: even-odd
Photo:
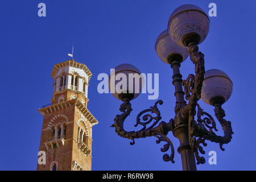
[[51, 76], [55, 79], [59, 69], [63, 68], [63, 67], [66, 67], [66, 66], [75, 67], [75, 68], [79, 68], [79, 69], [84, 70], [86, 75], [88, 75], [88, 82], [90, 81], [90, 78], [92, 77], [92, 72], [90, 72], [90, 70], [88, 69], [88, 67], [85, 64], [78, 63], [78, 62], [76, 62], [73, 59], [72, 60], [64, 61], [62, 63], [55, 64], [53, 69], [52, 69]]

